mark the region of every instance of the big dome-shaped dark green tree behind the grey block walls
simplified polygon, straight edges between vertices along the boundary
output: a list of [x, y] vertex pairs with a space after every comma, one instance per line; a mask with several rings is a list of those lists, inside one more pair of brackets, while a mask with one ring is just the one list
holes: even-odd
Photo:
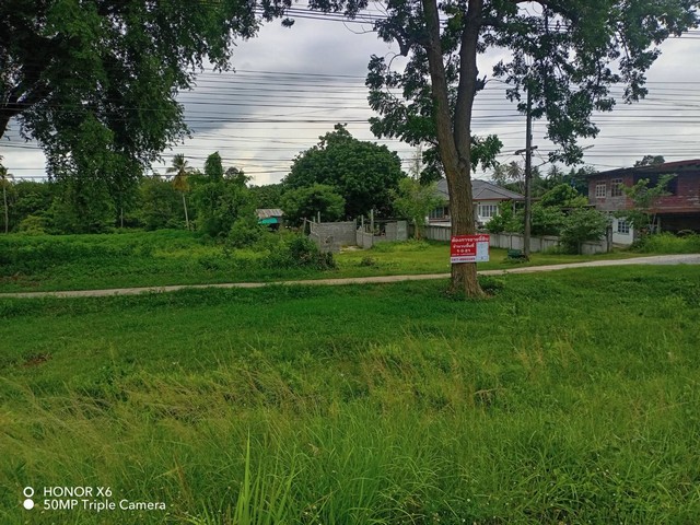
[[405, 177], [399, 156], [386, 145], [361, 141], [345, 126], [320, 137], [320, 142], [301, 153], [284, 178], [285, 188], [299, 189], [314, 184], [332, 186], [346, 202], [345, 215], [358, 217], [376, 209], [392, 211], [392, 190]]

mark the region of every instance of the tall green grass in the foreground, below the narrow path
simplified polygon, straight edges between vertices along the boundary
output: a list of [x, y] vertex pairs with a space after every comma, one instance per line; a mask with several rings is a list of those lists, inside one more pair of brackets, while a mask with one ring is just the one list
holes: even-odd
[[699, 523], [699, 278], [2, 299], [0, 522]]

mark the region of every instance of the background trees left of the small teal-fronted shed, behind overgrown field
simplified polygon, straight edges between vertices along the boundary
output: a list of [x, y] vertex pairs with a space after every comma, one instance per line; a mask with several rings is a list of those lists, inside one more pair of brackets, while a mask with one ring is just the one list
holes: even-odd
[[90, 178], [35, 182], [8, 177], [3, 184], [8, 231], [70, 234], [121, 228], [190, 229], [212, 237], [255, 233], [255, 209], [269, 200], [265, 197], [269, 189], [249, 187], [248, 177], [235, 167], [224, 170], [219, 153], [208, 158], [203, 172], [187, 166], [182, 155], [176, 161], [179, 164], [174, 162], [168, 168], [173, 176], [142, 177], [118, 195], [91, 187], [95, 182]]

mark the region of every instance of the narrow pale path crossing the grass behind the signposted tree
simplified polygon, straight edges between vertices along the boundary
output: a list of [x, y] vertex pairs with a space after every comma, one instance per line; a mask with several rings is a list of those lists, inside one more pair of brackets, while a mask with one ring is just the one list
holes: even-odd
[[[571, 262], [567, 265], [527, 266], [509, 268], [505, 270], [482, 270], [480, 276], [503, 276], [506, 273], [536, 273], [539, 271], [565, 270], [569, 268], [588, 268], [598, 266], [625, 266], [625, 265], [700, 265], [700, 254], [690, 255], [656, 255], [653, 257], [637, 257], [632, 259], [594, 260], [588, 262]], [[171, 287], [145, 288], [114, 288], [109, 290], [75, 290], [62, 292], [16, 292], [0, 293], [2, 298], [103, 298], [109, 295], [136, 295], [139, 293], [163, 293], [185, 289], [202, 288], [262, 288], [270, 284], [366, 284], [400, 281], [423, 281], [428, 279], [447, 279], [450, 273], [423, 273], [417, 276], [381, 276], [381, 277], [354, 277], [346, 279], [314, 279], [275, 282], [228, 282], [222, 284], [175, 284]]]

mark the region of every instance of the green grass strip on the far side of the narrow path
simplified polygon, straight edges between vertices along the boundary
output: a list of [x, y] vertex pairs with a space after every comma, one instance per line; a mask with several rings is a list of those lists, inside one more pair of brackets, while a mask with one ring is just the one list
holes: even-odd
[[[331, 271], [279, 268], [266, 264], [269, 248], [231, 249], [203, 244], [184, 231], [105, 235], [0, 236], [0, 293], [95, 290], [167, 284], [280, 281], [450, 271], [446, 243], [378, 245], [337, 256]], [[506, 250], [493, 249], [479, 269], [512, 267]], [[567, 256], [535, 254], [528, 265], [546, 265], [633, 254]]]

